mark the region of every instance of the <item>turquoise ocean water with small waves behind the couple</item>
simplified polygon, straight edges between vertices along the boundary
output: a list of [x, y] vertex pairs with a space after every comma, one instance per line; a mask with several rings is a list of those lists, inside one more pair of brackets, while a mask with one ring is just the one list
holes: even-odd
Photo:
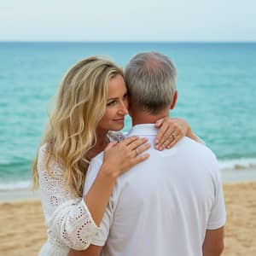
[[228, 179], [236, 172], [255, 178], [256, 44], [0, 43], [0, 189], [29, 184], [49, 102], [68, 67], [89, 55], [125, 67], [148, 50], [169, 55], [177, 66], [172, 116], [188, 120]]

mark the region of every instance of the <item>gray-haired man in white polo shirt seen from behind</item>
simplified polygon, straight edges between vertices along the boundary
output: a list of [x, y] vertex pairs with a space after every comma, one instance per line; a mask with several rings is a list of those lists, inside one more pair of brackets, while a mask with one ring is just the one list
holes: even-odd
[[[184, 137], [172, 149], [154, 149], [154, 122], [177, 101], [176, 68], [165, 55], [142, 53], [125, 69], [130, 93], [129, 136], [147, 137], [150, 157], [118, 178], [92, 244], [90, 256], [220, 255], [224, 239], [224, 196], [212, 151]], [[176, 134], [172, 135], [173, 137]], [[136, 154], [136, 152], [135, 152]], [[92, 160], [85, 192], [102, 154]]]

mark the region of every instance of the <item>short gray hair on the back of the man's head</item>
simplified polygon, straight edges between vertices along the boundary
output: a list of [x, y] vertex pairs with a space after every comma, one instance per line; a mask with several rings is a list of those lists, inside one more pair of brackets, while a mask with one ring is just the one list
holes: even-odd
[[159, 113], [172, 104], [176, 80], [176, 67], [160, 53], [137, 54], [125, 67], [131, 104], [149, 113]]

